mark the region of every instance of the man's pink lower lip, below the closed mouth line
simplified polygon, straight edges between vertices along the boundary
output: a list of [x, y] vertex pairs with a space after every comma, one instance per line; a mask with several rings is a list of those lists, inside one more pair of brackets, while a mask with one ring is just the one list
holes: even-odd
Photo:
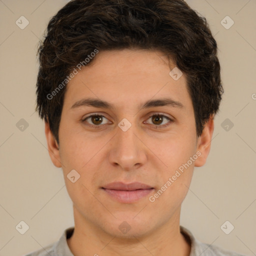
[[112, 198], [116, 199], [119, 202], [123, 203], [131, 203], [139, 200], [142, 197], [145, 197], [149, 193], [151, 193], [154, 188], [148, 189], [137, 189], [137, 190], [114, 190], [114, 189], [106, 189], [103, 190], [110, 195]]

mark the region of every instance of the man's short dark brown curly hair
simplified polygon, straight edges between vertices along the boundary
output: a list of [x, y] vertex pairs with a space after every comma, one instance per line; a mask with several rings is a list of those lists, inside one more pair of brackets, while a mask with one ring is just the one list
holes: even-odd
[[217, 44], [206, 19], [183, 0], [71, 0], [45, 33], [37, 52], [36, 110], [57, 142], [66, 86], [52, 92], [95, 49], [161, 50], [171, 56], [187, 77], [197, 136], [218, 111], [223, 88]]

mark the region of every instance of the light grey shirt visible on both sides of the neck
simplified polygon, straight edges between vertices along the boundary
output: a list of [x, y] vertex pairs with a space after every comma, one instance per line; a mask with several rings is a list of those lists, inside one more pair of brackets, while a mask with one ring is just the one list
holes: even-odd
[[[66, 239], [73, 233], [74, 227], [69, 227], [64, 230], [60, 239], [40, 250], [34, 251], [25, 256], [74, 256], [70, 251]], [[189, 256], [243, 256], [241, 254], [221, 249], [216, 245], [202, 243], [194, 238], [192, 233], [180, 226], [180, 232], [191, 243], [191, 252]]]

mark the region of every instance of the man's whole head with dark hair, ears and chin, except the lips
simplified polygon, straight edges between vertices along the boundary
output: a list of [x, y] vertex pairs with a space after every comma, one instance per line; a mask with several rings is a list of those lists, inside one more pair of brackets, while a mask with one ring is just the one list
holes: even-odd
[[[130, 234], [145, 234], [178, 216], [193, 167], [209, 153], [223, 92], [205, 18], [183, 0], [71, 0], [38, 53], [37, 110], [76, 219], [126, 235], [124, 220]], [[121, 203], [104, 191], [113, 181], [152, 190]]]

